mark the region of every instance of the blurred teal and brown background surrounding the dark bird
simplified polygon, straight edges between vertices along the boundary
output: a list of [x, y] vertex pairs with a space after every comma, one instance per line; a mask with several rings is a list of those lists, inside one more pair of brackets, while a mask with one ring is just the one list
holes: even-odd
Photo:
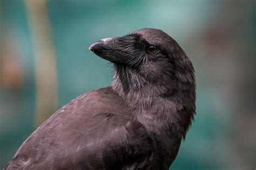
[[255, 169], [256, 1], [0, 1], [0, 168], [57, 109], [106, 87], [96, 40], [164, 30], [193, 62], [197, 116], [172, 169]]

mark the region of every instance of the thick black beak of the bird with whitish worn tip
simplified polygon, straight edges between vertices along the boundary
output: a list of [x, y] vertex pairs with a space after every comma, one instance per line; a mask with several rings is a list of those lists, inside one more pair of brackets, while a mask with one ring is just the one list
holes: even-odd
[[118, 38], [105, 38], [96, 41], [89, 49], [101, 58], [114, 63], [124, 63], [125, 56], [127, 56], [122, 52], [122, 47], [118, 45]]

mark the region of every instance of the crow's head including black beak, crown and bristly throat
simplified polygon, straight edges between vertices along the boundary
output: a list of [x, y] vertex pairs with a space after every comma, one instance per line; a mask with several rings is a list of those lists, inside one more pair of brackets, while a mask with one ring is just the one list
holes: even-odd
[[114, 65], [112, 87], [121, 96], [170, 96], [194, 90], [194, 69], [168, 34], [140, 29], [123, 37], [96, 41], [89, 49]]

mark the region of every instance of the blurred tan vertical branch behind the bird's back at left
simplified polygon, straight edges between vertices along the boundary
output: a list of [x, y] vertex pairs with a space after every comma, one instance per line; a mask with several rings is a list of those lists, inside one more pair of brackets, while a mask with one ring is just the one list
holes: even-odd
[[51, 26], [44, 0], [26, 0], [36, 66], [36, 126], [41, 125], [57, 108], [57, 70]]

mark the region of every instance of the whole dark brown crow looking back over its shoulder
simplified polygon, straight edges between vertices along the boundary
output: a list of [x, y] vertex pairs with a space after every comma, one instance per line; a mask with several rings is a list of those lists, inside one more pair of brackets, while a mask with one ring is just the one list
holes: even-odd
[[140, 29], [92, 44], [112, 86], [55, 112], [6, 169], [169, 169], [196, 110], [194, 69], [168, 34]]

